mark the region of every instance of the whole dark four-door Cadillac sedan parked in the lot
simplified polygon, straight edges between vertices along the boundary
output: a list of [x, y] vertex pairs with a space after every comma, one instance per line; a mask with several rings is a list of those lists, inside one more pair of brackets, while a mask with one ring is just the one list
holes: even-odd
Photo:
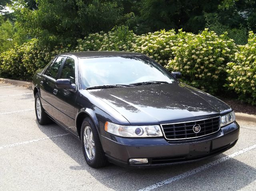
[[94, 168], [186, 163], [232, 148], [232, 108], [180, 77], [140, 53], [60, 54], [33, 77], [36, 118], [76, 136]]

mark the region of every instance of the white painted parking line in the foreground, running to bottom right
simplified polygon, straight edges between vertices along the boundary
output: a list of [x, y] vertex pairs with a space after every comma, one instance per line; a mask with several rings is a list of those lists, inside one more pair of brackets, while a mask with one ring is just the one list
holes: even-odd
[[188, 176], [194, 175], [194, 174], [196, 174], [196, 173], [199, 173], [199, 172], [201, 172], [201, 171], [203, 171], [203, 170], [205, 170], [205, 169], [208, 169], [208, 168], [210, 168], [210, 167], [213, 167], [213, 166], [215, 166], [215, 165], [217, 165], [217, 164], [219, 164], [219, 163], [222, 163], [222, 162], [224, 162], [224, 161], [226, 161], [226, 160], [229, 160], [229, 159], [231, 159], [231, 158], [234, 158], [234, 157], [236, 157], [236, 156], [238, 156], [238, 155], [240, 155], [240, 154], [244, 154], [245, 152], [248, 152], [248, 151], [250, 151], [250, 150], [252, 150], [252, 149], [255, 149], [255, 148], [256, 148], [256, 144], [255, 144], [255, 145], [252, 145], [252, 146], [250, 146], [250, 147], [244, 148], [244, 149], [242, 149], [242, 150], [240, 150], [240, 151], [238, 151], [238, 152], [235, 152], [235, 153], [233, 153], [233, 154], [230, 154], [230, 155], [228, 155], [228, 156], [225, 156], [225, 157], [222, 157], [222, 158], [217, 159], [217, 160], [215, 160], [215, 161], [212, 161], [212, 162], [210, 162], [210, 163], [207, 163], [207, 164], [205, 164], [205, 165], [202, 165], [202, 166], [200, 166], [200, 167], [197, 167], [197, 168], [195, 168], [195, 169], [192, 169], [192, 170], [190, 170], [190, 171], [186, 171], [186, 172], [184, 172], [184, 173], [182, 173], [182, 174], [179, 174], [179, 175], [177, 175], [177, 176], [170, 177], [170, 178], [168, 178], [168, 179], [166, 179], [166, 180], [164, 180], [164, 181], [161, 181], [161, 182], [155, 183], [155, 184], [153, 184], [153, 185], [151, 185], [151, 186], [148, 186], [148, 187], [146, 187], [146, 188], [140, 189], [139, 191], [150, 191], [150, 190], [157, 189], [157, 188], [159, 188], [159, 187], [161, 187], [161, 186], [170, 184], [170, 183], [172, 183], [172, 182], [174, 182], [174, 181], [177, 181], [177, 180], [183, 179], [183, 178], [185, 178], [185, 177], [188, 177]]

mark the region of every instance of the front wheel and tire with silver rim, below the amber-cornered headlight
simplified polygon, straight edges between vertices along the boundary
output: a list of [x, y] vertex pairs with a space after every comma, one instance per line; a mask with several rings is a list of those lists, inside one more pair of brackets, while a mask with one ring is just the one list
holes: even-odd
[[96, 126], [94, 125], [94, 122], [91, 118], [88, 117], [85, 118], [82, 123], [81, 144], [85, 161], [89, 166], [93, 168], [100, 168], [106, 166], [108, 161], [102, 149], [100, 136], [98, 134]]

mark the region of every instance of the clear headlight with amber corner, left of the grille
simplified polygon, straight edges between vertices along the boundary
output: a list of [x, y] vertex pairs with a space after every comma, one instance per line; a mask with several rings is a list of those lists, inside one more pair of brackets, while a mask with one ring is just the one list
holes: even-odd
[[104, 130], [121, 137], [161, 137], [163, 136], [159, 125], [124, 126], [106, 122]]

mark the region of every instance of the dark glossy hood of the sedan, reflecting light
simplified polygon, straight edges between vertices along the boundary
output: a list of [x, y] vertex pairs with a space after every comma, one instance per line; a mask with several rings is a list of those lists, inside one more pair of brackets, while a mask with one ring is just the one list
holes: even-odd
[[130, 124], [160, 124], [218, 116], [231, 108], [184, 83], [89, 90]]

